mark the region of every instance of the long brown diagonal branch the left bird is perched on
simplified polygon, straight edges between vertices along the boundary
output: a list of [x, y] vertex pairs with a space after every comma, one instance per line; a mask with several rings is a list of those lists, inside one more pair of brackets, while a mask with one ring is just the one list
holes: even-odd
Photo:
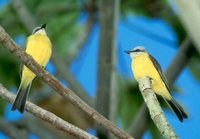
[[64, 85], [62, 85], [54, 76], [45, 71], [37, 62], [35, 62], [35, 60], [30, 55], [28, 55], [25, 51], [23, 51], [16, 45], [16, 43], [10, 38], [10, 36], [5, 32], [5, 30], [1, 26], [0, 43], [5, 48], [7, 48], [13, 55], [15, 55], [31, 71], [33, 71], [39, 78], [41, 78], [45, 83], [51, 86], [64, 99], [70, 101], [74, 106], [83, 111], [90, 118], [95, 120], [98, 124], [102, 125], [105, 129], [109, 130], [119, 138], [132, 138], [126, 132], [116, 127], [112, 122], [110, 122], [97, 111], [88, 106], [72, 90], [64, 87]]

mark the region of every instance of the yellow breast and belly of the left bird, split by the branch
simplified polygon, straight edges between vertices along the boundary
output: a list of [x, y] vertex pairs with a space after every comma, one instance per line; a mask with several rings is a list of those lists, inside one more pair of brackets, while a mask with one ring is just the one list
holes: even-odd
[[[51, 56], [51, 42], [46, 35], [35, 34], [28, 37], [26, 52], [38, 64], [45, 67]], [[21, 84], [26, 87], [35, 78], [35, 74], [26, 66], [23, 67]]]

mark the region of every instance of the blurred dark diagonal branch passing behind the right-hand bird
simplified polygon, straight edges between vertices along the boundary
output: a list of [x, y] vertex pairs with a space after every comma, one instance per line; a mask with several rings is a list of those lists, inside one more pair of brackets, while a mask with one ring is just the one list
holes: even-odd
[[[172, 61], [172, 63], [170, 64], [169, 68], [166, 71], [166, 78], [168, 80], [169, 86], [173, 85], [173, 83], [176, 80], [176, 78], [178, 77], [178, 75], [181, 73], [181, 71], [187, 65], [189, 59], [192, 57], [194, 51], [195, 51], [194, 47], [191, 47], [191, 41], [187, 37], [181, 44], [176, 57], [174, 58], [174, 60]], [[176, 73], [176, 74], [174, 74], [174, 73]], [[144, 115], [146, 115], [147, 119], [149, 116], [148, 110], [144, 109], [145, 105], [146, 105], [145, 103], [142, 104], [142, 106], [139, 109], [140, 112], [136, 115], [136, 117], [138, 117], [138, 118], [134, 119], [131, 124], [135, 128], [131, 128], [132, 130], [129, 130], [129, 133], [135, 133], [133, 135], [136, 138], [143, 135], [143, 132], [145, 131], [145, 128], [149, 121], [149, 120], [146, 120], [146, 122], [144, 122]], [[138, 128], [137, 126], [135, 126], [135, 125], [137, 125], [137, 123], [140, 123], [140, 129], [143, 132], [142, 131], [135, 132], [135, 130], [137, 131], [137, 128]]]

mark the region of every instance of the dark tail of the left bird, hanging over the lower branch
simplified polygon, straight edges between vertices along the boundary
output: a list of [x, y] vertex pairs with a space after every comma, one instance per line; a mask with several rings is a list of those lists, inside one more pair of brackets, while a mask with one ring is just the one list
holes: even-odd
[[12, 111], [17, 109], [21, 113], [24, 112], [26, 99], [28, 97], [30, 87], [31, 87], [31, 83], [25, 88], [23, 88], [20, 85], [18, 92], [17, 92], [17, 96], [16, 96], [15, 101], [13, 102], [13, 105], [12, 105], [12, 109], [11, 109]]

